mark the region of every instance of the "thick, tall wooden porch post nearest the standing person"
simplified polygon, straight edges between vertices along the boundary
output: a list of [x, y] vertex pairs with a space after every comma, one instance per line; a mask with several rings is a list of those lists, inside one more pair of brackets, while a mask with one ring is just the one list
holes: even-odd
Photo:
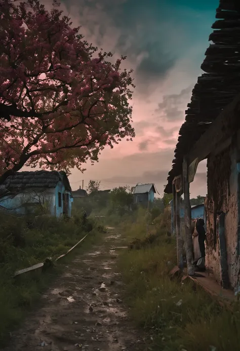
[[183, 159], [183, 190], [184, 190], [184, 208], [185, 208], [185, 251], [187, 256], [187, 273], [194, 276], [195, 270], [193, 265], [193, 243], [191, 232], [191, 205], [188, 182], [188, 160]]

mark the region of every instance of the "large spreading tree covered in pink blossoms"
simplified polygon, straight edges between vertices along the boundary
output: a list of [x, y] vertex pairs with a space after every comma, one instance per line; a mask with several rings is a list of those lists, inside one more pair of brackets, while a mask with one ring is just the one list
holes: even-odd
[[0, 183], [24, 165], [79, 170], [131, 140], [132, 70], [88, 44], [54, 0], [0, 0]]

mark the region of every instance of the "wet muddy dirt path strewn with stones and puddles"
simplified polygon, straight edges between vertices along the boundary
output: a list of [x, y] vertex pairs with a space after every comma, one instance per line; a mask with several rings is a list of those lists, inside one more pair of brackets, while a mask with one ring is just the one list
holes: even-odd
[[144, 350], [121, 301], [121, 246], [121, 235], [109, 228], [100, 245], [68, 264], [5, 351]]

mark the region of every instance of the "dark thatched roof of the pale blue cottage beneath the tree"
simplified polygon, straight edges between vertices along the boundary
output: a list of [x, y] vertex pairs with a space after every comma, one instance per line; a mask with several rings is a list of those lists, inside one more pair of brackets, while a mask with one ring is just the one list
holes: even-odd
[[67, 175], [63, 171], [15, 172], [0, 186], [0, 196], [31, 188], [55, 188], [59, 181], [63, 182], [66, 190], [71, 191]]

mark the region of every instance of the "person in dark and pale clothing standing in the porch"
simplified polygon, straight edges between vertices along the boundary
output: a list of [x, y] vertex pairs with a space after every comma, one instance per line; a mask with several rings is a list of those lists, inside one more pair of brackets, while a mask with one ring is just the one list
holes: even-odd
[[194, 264], [199, 269], [205, 269], [205, 239], [206, 231], [204, 229], [203, 218], [196, 220], [195, 229], [192, 235], [194, 249]]

